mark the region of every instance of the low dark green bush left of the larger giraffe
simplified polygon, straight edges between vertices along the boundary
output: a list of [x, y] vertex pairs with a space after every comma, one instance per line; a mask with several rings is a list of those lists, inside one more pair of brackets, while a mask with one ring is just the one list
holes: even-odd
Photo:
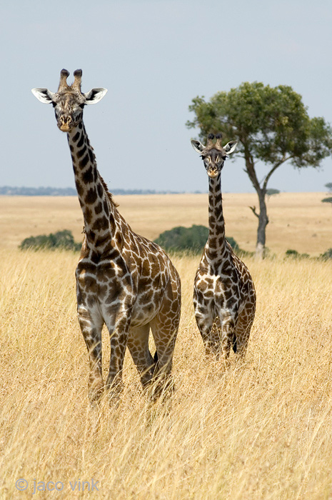
[[57, 233], [51, 234], [40, 234], [39, 236], [30, 236], [30, 238], [24, 239], [19, 245], [21, 250], [71, 250], [79, 251], [81, 250], [81, 243], [76, 243], [74, 241], [74, 236], [71, 234], [69, 229], [64, 229], [64, 231], [58, 231]]

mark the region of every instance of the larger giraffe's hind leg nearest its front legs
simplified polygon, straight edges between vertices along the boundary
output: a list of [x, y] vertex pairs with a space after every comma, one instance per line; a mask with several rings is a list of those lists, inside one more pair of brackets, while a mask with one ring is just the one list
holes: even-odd
[[156, 362], [149, 351], [149, 333], [150, 324], [131, 328], [127, 344], [144, 388], [149, 385], [156, 367]]

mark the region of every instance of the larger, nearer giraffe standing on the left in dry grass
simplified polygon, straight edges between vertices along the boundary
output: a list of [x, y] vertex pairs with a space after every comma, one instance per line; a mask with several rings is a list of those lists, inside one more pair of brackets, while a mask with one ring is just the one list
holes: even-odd
[[[96, 104], [106, 89], [81, 92], [81, 69], [61, 71], [59, 89], [33, 89], [39, 101], [53, 104], [59, 129], [66, 132], [76, 190], [84, 216], [84, 241], [76, 268], [77, 315], [89, 352], [89, 399], [99, 401], [104, 391], [101, 367], [101, 330], [106, 324], [111, 342], [106, 389], [119, 399], [126, 346], [146, 388], [156, 381], [155, 396], [171, 387], [173, 349], [181, 310], [178, 272], [165, 252], [135, 234], [116, 209], [96, 165], [86, 134], [83, 109]], [[156, 345], [149, 351], [149, 331]]]

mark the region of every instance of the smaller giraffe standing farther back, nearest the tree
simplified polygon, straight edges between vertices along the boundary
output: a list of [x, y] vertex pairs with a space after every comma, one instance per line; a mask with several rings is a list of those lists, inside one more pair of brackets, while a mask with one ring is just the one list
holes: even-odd
[[201, 154], [208, 174], [208, 241], [199, 263], [194, 287], [193, 306], [196, 323], [206, 354], [222, 356], [226, 361], [233, 347], [245, 356], [255, 316], [256, 292], [248, 269], [233, 253], [225, 237], [221, 196], [221, 170], [227, 156], [236, 149], [236, 141], [221, 145], [221, 134], [208, 135], [208, 142], [192, 140]]

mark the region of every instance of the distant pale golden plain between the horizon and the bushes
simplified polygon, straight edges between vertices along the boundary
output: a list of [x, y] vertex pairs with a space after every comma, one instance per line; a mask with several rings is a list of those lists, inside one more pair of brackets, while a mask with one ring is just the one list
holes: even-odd
[[[281, 193], [268, 200], [267, 246], [273, 253], [294, 249], [318, 256], [331, 248], [332, 209], [323, 193]], [[174, 226], [208, 225], [207, 194], [115, 196], [134, 231], [155, 239]], [[257, 219], [248, 206], [256, 194], [223, 194], [226, 234], [253, 251]], [[76, 196], [0, 196], [0, 246], [17, 247], [24, 238], [62, 229], [81, 241], [83, 219]]]

